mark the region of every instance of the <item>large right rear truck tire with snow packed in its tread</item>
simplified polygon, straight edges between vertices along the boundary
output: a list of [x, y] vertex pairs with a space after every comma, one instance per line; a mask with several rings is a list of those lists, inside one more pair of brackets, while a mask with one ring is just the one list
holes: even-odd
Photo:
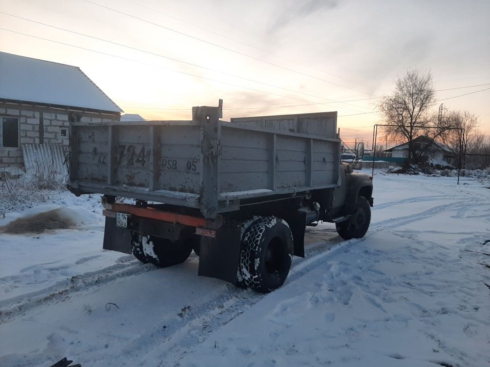
[[259, 217], [245, 231], [240, 255], [245, 285], [269, 293], [286, 280], [293, 258], [293, 235], [278, 217]]

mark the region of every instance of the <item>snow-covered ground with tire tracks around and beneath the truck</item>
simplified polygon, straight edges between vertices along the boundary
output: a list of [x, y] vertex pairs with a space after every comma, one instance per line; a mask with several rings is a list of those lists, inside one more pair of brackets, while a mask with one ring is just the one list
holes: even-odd
[[6, 213], [71, 225], [0, 233], [0, 366], [490, 366], [489, 179], [373, 183], [366, 237], [309, 228], [268, 295], [103, 251], [96, 196]]

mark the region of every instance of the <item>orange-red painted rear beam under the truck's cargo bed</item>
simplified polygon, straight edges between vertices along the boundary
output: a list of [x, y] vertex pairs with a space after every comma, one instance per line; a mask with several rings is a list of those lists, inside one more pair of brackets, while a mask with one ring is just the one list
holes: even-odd
[[205, 227], [206, 219], [191, 215], [176, 214], [170, 211], [158, 210], [152, 207], [139, 207], [128, 204], [113, 204], [112, 210], [119, 213], [133, 214], [138, 217], [156, 219], [170, 223], [180, 223], [191, 227]]

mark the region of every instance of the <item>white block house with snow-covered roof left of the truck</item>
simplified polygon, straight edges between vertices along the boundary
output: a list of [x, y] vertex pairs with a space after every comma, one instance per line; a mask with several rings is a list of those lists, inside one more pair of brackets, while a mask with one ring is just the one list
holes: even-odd
[[121, 112], [77, 67], [0, 52], [0, 167], [22, 166], [25, 144], [67, 146], [70, 122]]

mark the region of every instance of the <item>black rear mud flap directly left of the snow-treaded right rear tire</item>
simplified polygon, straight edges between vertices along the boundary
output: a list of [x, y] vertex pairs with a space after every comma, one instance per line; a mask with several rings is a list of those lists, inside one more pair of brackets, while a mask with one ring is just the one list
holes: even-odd
[[242, 228], [240, 222], [225, 223], [216, 238], [201, 236], [198, 275], [218, 278], [237, 285]]

